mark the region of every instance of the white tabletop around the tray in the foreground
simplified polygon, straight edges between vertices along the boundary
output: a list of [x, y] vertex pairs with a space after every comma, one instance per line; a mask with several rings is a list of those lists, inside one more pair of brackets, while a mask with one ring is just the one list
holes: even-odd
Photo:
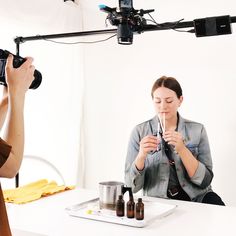
[[[98, 197], [96, 191], [75, 189], [24, 205], [7, 204], [11, 228], [50, 236], [75, 235], [236, 235], [236, 207], [159, 199], [178, 205], [166, 217], [144, 228], [71, 217], [65, 208]], [[14, 234], [13, 234], [14, 235]], [[22, 235], [23, 234], [15, 234]], [[26, 234], [28, 236], [28, 234]]]

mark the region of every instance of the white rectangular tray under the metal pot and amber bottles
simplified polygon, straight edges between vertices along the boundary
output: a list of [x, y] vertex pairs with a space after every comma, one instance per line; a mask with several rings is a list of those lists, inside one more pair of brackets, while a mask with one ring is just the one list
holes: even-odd
[[68, 212], [69, 215], [75, 217], [104, 221], [114, 224], [128, 225], [133, 227], [145, 227], [155, 219], [169, 215], [177, 207], [177, 205], [145, 200], [144, 198], [143, 198], [143, 203], [144, 203], [143, 220], [136, 220], [135, 218], [129, 219], [126, 216], [118, 217], [116, 216], [115, 211], [106, 209], [100, 210], [99, 198], [95, 198], [90, 201], [69, 206], [66, 208], [66, 211]]

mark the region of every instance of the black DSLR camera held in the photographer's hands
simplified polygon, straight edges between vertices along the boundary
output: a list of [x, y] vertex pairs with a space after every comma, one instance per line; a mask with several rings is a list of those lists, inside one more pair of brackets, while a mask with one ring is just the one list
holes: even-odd
[[[7, 86], [6, 83], [6, 78], [5, 78], [5, 66], [6, 66], [6, 61], [7, 61], [7, 57], [9, 54], [12, 54], [10, 52], [8, 52], [7, 50], [2, 50], [0, 49], [0, 84]], [[20, 56], [14, 55], [13, 58], [13, 67], [14, 68], [18, 68], [20, 67], [25, 61], [25, 58], [22, 58]], [[42, 74], [38, 71], [35, 70], [34, 71], [34, 80], [32, 82], [32, 84], [30, 85], [30, 89], [36, 89], [39, 87], [39, 85], [42, 82]]]

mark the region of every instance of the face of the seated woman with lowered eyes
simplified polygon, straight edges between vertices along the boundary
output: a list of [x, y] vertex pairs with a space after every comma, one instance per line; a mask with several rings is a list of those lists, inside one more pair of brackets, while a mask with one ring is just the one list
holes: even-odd
[[173, 90], [166, 87], [159, 87], [153, 93], [155, 111], [161, 118], [165, 115], [166, 120], [176, 117], [182, 101], [182, 96], [178, 98]]

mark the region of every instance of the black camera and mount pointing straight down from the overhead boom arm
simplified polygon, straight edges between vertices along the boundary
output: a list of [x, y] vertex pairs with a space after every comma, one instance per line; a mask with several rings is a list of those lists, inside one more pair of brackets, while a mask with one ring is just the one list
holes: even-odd
[[119, 0], [119, 10], [106, 5], [99, 5], [101, 11], [108, 13], [107, 19], [111, 25], [117, 26], [117, 39], [119, 44], [130, 45], [133, 43], [133, 33], [141, 33], [147, 25], [144, 14], [154, 10], [135, 10], [132, 0]]

